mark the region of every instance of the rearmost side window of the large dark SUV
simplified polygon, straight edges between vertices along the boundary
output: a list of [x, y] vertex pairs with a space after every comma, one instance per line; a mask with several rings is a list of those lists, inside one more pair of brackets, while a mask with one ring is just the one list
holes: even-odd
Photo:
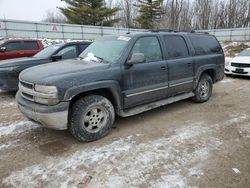
[[222, 52], [219, 42], [211, 35], [196, 34], [190, 35], [189, 38], [193, 44], [195, 55], [206, 55]]

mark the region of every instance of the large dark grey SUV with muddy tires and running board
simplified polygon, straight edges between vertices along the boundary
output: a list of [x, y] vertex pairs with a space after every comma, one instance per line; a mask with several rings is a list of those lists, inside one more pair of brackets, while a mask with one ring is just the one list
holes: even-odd
[[208, 101], [224, 67], [223, 50], [209, 34], [108, 36], [79, 59], [24, 70], [16, 99], [29, 119], [93, 141], [110, 132], [115, 115], [132, 116], [190, 97]]

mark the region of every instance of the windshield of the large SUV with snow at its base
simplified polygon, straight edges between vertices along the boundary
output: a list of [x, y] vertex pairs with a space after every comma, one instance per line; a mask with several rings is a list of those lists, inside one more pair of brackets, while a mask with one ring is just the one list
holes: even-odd
[[95, 41], [81, 53], [80, 58], [86, 61], [115, 63], [129, 40], [129, 37], [118, 37]]

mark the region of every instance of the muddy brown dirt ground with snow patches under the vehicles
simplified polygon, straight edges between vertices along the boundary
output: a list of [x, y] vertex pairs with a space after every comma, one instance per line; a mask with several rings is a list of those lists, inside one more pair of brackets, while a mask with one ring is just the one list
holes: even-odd
[[119, 118], [91, 143], [28, 121], [14, 95], [0, 93], [0, 187], [250, 187], [250, 79]]

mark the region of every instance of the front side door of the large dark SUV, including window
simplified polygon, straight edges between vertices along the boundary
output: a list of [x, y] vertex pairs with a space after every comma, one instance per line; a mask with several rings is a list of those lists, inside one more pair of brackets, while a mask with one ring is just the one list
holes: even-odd
[[[166, 97], [168, 75], [166, 60], [157, 36], [137, 39], [130, 52], [143, 53], [146, 61], [123, 70], [123, 92], [125, 108], [134, 107]], [[128, 60], [129, 60], [128, 59]]]

